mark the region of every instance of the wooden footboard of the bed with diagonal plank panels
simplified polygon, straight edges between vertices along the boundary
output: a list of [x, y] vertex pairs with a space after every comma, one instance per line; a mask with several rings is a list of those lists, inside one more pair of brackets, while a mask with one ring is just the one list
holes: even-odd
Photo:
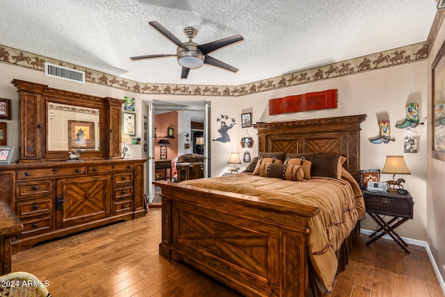
[[161, 255], [245, 296], [307, 296], [307, 218], [318, 208], [155, 184], [162, 188]]

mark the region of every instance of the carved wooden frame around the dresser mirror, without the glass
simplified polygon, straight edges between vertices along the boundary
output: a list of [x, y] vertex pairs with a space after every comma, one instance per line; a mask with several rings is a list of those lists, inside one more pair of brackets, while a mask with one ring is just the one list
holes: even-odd
[[97, 97], [13, 79], [19, 93], [19, 162], [65, 161], [69, 151], [47, 148], [48, 102], [99, 109], [100, 150], [86, 150], [82, 159], [122, 159], [123, 99]]

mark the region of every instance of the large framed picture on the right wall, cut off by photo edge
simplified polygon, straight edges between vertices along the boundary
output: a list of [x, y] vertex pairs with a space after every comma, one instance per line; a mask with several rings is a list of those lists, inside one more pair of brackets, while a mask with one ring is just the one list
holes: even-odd
[[432, 157], [445, 161], [445, 42], [431, 65]]

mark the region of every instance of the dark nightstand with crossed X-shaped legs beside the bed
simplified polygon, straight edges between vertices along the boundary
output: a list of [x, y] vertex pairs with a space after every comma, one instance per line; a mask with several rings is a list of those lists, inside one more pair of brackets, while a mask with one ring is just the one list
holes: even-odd
[[[369, 246], [385, 234], [388, 234], [405, 252], [410, 253], [406, 248], [408, 246], [407, 243], [403, 241], [394, 229], [413, 217], [414, 202], [412, 201], [411, 194], [377, 193], [365, 190], [363, 197], [366, 212], [380, 226], [378, 230], [375, 230], [373, 234], [369, 235], [369, 237], [373, 237], [373, 239], [365, 243], [366, 246]], [[392, 218], [387, 221], [385, 220], [385, 216], [391, 216]], [[379, 234], [379, 232], [381, 233]]]

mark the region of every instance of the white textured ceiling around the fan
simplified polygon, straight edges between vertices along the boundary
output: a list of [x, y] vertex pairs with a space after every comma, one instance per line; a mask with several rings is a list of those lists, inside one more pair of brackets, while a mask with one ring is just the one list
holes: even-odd
[[[0, 45], [141, 83], [237, 86], [394, 49], [428, 38], [435, 0], [1, 0]], [[236, 74], [208, 65], [181, 80], [176, 45], [148, 26], [157, 21], [186, 42], [241, 34], [211, 54]]]

